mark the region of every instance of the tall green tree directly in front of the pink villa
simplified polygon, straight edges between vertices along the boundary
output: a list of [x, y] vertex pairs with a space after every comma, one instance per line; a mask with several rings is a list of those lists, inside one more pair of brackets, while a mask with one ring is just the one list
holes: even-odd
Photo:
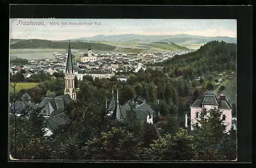
[[222, 160], [224, 155], [223, 142], [226, 126], [222, 120], [222, 111], [217, 108], [198, 111], [198, 127], [194, 128], [193, 136], [196, 146], [197, 158], [200, 160]]

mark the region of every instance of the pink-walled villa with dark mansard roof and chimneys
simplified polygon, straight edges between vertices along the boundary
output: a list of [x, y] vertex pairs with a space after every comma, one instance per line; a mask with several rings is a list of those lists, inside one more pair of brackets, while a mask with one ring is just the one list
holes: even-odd
[[[222, 111], [223, 123], [226, 124], [226, 131], [229, 131], [231, 128], [232, 113], [231, 113], [231, 103], [230, 100], [226, 98], [225, 95], [220, 95], [217, 97], [214, 92], [207, 91], [204, 96], [197, 98], [190, 105], [190, 117], [185, 118], [185, 126], [190, 126], [190, 129], [193, 130], [193, 124], [200, 126], [198, 123], [198, 118], [202, 110], [208, 111], [211, 108], [219, 108]], [[190, 118], [190, 123], [188, 120]]]

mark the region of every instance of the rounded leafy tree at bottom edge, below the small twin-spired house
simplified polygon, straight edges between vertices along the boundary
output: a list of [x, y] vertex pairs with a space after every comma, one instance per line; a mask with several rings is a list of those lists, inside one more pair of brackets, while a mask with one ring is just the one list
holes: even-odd
[[93, 138], [82, 147], [82, 159], [93, 160], [138, 160], [141, 143], [133, 132], [112, 127]]

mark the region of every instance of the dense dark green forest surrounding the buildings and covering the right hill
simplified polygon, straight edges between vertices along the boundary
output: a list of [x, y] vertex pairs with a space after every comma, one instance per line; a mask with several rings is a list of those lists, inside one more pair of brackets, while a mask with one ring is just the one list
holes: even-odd
[[[184, 127], [189, 103], [198, 96], [189, 78], [199, 75], [203, 67], [207, 68], [201, 73], [232, 69], [230, 65], [236, 63], [234, 57], [235, 44], [212, 41], [198, 51], [158, 63], [157, 66], [166, 67], [164, 71], [147, 68], [130, 74], [127, 81], [119, 81], [116, 76], [76, 79], [77, 100], [67, 108], [71, 122], [51, 136], [44, 136], [45, 119], [33, 103], [40, 102], [46, 95], [63, 94], [63, 74], [55, 74], [56, 79], [49, 74], [35, 74], [31, 80], [40, 80], [37, 87], [21, 90], [19, 94], [10, 93], [11, 101], [31, 102], [22, 115], [16, 117], [16, 122], [13, 114], [10, 116], [10, 152], [18, 159], [234, 160], [237, 158], [236, 131], [224, 131], [218, 109], [207, 111], [210, 117], [202, 119], [203, 127], [191, 132]], [[190, 75], [184, 73], [186, 68], [192, 69]], [[154, 119], [154, 124], [141, 124], [134, 116], [123, 122], [108, 117], [105, 101], [110, 99], [112, 88], [115, 94], [118, 88], [120, 105], [140, 95], [155, 111], [159, 110], [161, 117]]]

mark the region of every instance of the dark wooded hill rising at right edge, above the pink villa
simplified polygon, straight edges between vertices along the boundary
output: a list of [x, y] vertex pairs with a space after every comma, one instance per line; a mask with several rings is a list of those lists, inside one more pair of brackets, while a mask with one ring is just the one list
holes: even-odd
[[175, 55], [153, 66], [164, 66], [170, 77], [184, 76], [194, 78], [209, 72], [236, 70], [237, 44], [211, 41], [197, 51]]

